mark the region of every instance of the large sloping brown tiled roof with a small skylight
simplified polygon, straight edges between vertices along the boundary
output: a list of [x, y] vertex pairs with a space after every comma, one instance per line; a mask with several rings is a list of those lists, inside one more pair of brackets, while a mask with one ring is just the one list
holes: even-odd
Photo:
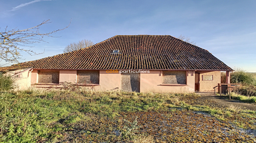
[[[119, 53], [112, 53], [119, 50]], [[176, 69], [232, 70], [208, 50], [170, 35], [116, 35], [93, 46], [0, 70], [36, 69]]]

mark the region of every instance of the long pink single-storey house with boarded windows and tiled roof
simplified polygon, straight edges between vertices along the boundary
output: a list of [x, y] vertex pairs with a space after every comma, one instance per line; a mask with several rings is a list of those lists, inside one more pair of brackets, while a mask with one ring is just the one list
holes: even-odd
[[20, 88], [62, 87], [71, 82], [95, 90], [193, 93], [212, 91], [221, 71], [233, 71], [208, 50], [170, 35], [116, 35], [93, 46], [1, 67]]

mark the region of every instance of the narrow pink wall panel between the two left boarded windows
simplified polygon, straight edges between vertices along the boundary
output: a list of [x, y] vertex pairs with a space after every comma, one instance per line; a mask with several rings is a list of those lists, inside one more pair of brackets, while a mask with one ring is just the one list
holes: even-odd
[[76, 71], [77, 70], [60, 70], [59, 83], [63, 83], [63, 82], [76, 83]]

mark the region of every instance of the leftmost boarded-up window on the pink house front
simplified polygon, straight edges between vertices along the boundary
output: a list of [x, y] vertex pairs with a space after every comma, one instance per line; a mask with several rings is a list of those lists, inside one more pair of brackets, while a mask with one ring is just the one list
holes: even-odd
[[59, 83], [58, 70], [39, 70], [38, 83]]

